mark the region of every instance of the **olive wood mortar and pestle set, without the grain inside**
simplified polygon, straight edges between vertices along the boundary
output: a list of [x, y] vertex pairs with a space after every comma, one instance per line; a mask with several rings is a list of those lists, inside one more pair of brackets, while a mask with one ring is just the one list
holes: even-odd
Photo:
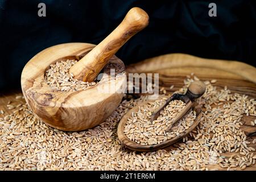
[[[113, 113], [122, 100], [126, 86], [123, 62], [114, 53], [148, 24], [148, 15], [134, 7], [122, 23], [97, 46], [88, 43], [67, 43], [49, 47], [32, 57], [25, 65], [21, 85], [24, 98], [33, 113], [59, 130], [80, 131], [97, 126]], [[104, 75], [96, 85], [85, 90], [65, 92], [52, 89], [44, 75], [49, 65], [74, 59], [70, 69], [78, 80], [93, 81], [103, 68]], [[115, 69], [115, 77], [110, 76]], [[114, 90], [102, 90], [114, 85]]]

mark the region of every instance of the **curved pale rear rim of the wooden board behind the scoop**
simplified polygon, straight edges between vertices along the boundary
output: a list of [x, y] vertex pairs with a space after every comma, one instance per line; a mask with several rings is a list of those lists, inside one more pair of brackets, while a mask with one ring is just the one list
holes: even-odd
[[[157, 64], [156, 64], [157, 63]], [[218, 72], [229, 72], [236, 75], [235, 77], [242, 77], [245, 80], [256, 83], [256, 72], [255, 68], [251, 65], [241, 63], [239, 61], [225, 61], [225, 60], [216, 60], [216, 59], [203, 59], [196, 56], [186, 55], [183, 53], [171, 53], [167, 55], [162, 55], [158, 57], [152, 57], [141, 61], [138, 64], [130, 65], [126, 70], [130, 73], [141, 73], [141, 72], [151, 72], [162, 69], [174, 69], [177, 68], [181, 72], [186, 71], [189, 68], [193, 73], [199, 73], [200, 75], [212, 75], [217, 76]], [[185, 69], [183, 69], [185, 68]], [[197, 71], [196, 72], [196, 69]], [[206, 70], [214, 70], [215, 73], [207, 73]], [[203, 72], [200, 73], [200, 70], [203, 69]], [[223, 75], [223, 74], [222, 74]], [[225, 75], [225, 74], [224, 74]], [[230, 74], [226, 74], [229, 75]], [[218, 77], [218, 76], [217, 76]]]

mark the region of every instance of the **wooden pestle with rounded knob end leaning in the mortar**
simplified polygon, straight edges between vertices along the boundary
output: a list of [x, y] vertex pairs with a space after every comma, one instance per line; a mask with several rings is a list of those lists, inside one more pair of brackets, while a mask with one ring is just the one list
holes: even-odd
[[69, 73], [78, 80], [92, 82], [118, 49], [148, 25], [148, 19], [147, 13], [139, 7], [130, 9], [119, 26], [73, 65]]

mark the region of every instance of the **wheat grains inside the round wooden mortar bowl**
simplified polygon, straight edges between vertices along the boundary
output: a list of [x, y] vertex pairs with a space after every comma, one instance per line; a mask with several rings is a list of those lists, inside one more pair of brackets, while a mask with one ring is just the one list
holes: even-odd
[[47, 84], [52, 89], [60, 91], [79, 91], [96, 85], [94, 81], [84, 82], [73, 78], [73, 73], [69, 73], [69, 69], [76, 63], [77, 60], [67, 60], [51, 64], [44, 76]]

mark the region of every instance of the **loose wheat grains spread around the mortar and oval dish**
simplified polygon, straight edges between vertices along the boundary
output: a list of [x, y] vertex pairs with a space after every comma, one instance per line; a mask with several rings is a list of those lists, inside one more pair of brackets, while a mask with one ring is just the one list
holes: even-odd
[[[187, 78], [179, 92], [185, 93], [193, 79]], [[23, 104], [0, 118], [0, 169], [236, 170], [255, 164], [255, 148], [240, 127], [243, 114], [256, 115], [256, 101], [227, 88], [216, 89], [209, 81], [205, 84], [207, 91], [198, 100], [205, 102], [199, 125], [183, 141], [155, 152], [128, 151], [117, 137], [123, 114], [144, 97], [125, 98], [100, 126], [78, 133], [52, 129], [24, 101], [13, 101], [11, 105]], [[233, 155], [225, 155], [225, 151]]]

